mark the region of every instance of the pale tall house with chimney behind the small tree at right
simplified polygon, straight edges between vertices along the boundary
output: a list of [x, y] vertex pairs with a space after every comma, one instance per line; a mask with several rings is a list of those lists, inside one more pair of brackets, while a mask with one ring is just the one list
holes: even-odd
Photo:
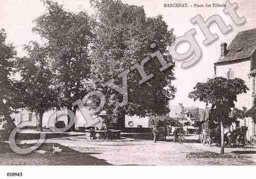
[[[256, 98], [256, 28], [239, 32], [227, 47], [227, 43], [221, 44], [221, 55], [214, 64], [215, 76], [228, 79], [241, 78], [245, 81], [250, 91], [238, 96], [236, 108], [243, 106], [252, 108]], [[243, 125], [243, 123], [241, 123]], [[248, 118], [247, 138], [251, 140], [256, 135], [256, 123], [254, 119]]]

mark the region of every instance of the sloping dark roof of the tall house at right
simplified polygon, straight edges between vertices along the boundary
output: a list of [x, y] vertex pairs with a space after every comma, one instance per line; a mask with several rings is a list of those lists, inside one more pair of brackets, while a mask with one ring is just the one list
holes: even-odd
[[256, 50], [256, 28], [239, 32], [228, 46], [228, 52], [216, 63], [251, 57]]

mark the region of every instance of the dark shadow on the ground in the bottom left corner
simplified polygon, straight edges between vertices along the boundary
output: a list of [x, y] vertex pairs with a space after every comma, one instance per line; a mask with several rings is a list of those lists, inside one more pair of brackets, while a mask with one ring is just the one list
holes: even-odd
[[[46, 151], [46, 154], [32, 152], [27, 155], [19, 155], [12, 152], [8, 144], [0, 143], [0, 165], [110, 165], [105, 160], [90, 156], [100, 153], [80, 153], [59, 144], [54, 144], [54, 147], [59, 147], [62, 151], [52, 155], [52, 145], [51, 143], [45, 143], [37, 149]], [[19, 145], [19, 147], [22, 146]], [[25, 147], [30, 146], [32, 145], [25, 144]]]

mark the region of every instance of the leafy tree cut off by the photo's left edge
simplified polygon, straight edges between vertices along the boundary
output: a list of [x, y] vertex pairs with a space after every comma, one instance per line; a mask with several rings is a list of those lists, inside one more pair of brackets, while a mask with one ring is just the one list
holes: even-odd
[[6, 33], [0, 29], [0, 116], [7, 121], [8, 130], [15, 127], [10, 114], [21, 107], [17, 100], [17, 86], [13, 77], [16, 51], [12, 44], [6, 44]]

